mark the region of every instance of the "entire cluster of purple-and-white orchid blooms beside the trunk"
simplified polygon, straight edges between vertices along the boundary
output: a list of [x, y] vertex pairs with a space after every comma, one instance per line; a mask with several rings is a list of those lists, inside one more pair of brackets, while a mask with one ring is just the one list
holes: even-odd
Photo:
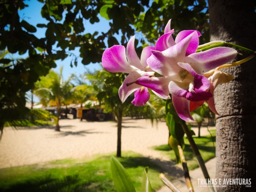
[[[164, 28], [155, 47], [145, 47], [139, 58], [135, 52], [133, 36], [127, 49], [114, 45], [102, 55], [102, 66], [109, 72], [128, 75], [119, 88], [119, 97], [124, 102], [134, 92], [132, 104], [145, 105], [149, 100], [148, 89], [158, 97], [171, 99], [177, 114], [185, 121], [193, 121], [190, 111], [208, 102], [209, 108], [218, 115], [214, 107], [213, 91], [218, 84], [233, 79], [218, 67], [233, 60], [237, 51], [229, 47], [215, 47], [196, 52], [200, 32], [180, 31], [172, 37], [171, 20]], [[171, 97], [170, 97], [171, 95]]]

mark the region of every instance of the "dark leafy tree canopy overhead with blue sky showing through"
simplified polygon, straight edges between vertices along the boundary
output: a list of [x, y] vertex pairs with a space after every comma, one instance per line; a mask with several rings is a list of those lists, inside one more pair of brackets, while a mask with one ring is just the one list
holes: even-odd
[[[84, 65], [99, 63], [105, 48], [126, 45], [136, 34], [135, 47], [140, 56], [143, 47], [153, 44], [164, 33], [169, 19], [172, 19], [174, 35], [184, 29], [196, 29], [202, 34], [201, 43], [209, 41], [208, 8], [204, 0], [38, 1], [43, 4], [41, 16], [47, 22], [36, 26], [18, 13], [29, 6], [26, 1], [0, 3], [1, 131], [4, 122], [24, 118], [29, 113], [25, 93], [34, 90], [40, 76], [47, 75], [56, 67], [56, 60], [72, 55], [69, 51], [75, 48], [80, 55], [72, 55], [71, 67], [77, 66], [78, 57], [83, 58]], [[109, 21], [107, 32], [85, 33], [85, 21], [94, 24], [102, 18]], [[45, 29], [41, 38], [34, 35], [39, 28]], [[28, 57], [16, 59], [11, 54], [28, 54]]]

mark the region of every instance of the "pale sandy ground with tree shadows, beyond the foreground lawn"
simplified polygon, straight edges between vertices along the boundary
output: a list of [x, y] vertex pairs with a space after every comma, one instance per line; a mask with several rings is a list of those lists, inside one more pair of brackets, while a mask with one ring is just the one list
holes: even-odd
[[[61, 132], [52, 126], [4, 128], [0, 141], [0, 168], [42, 163], [65, 158], [82, 158], [116, 151], [116, 122], [80, 122], [61, 119]], [[214, 127], [210, 127], [213, 129]], [[197, 133], [197, 130], [194, 130]], [[207, 135], [201, 129], [201, 135]], [[143, 156], [162, 159], [152, 146], [166, 144], [168, 129], [165, 122], [151, 125], [149, 120], [124, 118], [122, 150], [132, 150]]]

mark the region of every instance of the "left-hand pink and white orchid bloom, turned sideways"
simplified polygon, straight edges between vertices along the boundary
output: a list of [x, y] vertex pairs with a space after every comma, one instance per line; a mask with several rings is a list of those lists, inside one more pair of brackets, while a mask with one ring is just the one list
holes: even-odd
[[[123, 72], [129, 75], [124, 79], [123, 84], [119, 88], [119, 97], [124, 102], [127, 97], [134, 92], [134, 100], [132, 103], [135, 106], [145, 105], [149, 100], [148, 88], [139, 84], [135, 84], [137, 79], [143, 76], [153, 76], [152, 71], [146, 62], [151, 55], [151, 51], [154, 47], [146, 47], [141, 53], [141, 58], [136, 54], [134, 48], [133, 36], [128, 44], [125, 54], [125, 47], [122, 45], [114, 45], [111, 48], [106, 49], [102, 55], [102, 66], [109, 72]], [[164, 99], [170, 99], [168, 91], [168, 78], [157, 77], [159, 81], [166, 82], [163, 87], [151, 86], [152, 91], [159, 97]]]

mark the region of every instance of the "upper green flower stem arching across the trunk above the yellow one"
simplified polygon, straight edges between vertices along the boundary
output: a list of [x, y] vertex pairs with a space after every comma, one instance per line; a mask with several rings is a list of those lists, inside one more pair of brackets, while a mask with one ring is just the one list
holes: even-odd
[[231, 48], [238, 49], [242, 52], [249, 53], [249, 54], [256, 53], [255, 51], [252, 51], [251, 49], [247, 49], [245, 47], [242, 47], [242, 46], [239, 46], [236, 44], [232, 44], [232, 43], [228, 43], [225, 41], [212, 41], [207, 44], [199, 45], [196, 52], [206, 51], [206, 50], [212, 49], [214, 47], [231, 47]]

